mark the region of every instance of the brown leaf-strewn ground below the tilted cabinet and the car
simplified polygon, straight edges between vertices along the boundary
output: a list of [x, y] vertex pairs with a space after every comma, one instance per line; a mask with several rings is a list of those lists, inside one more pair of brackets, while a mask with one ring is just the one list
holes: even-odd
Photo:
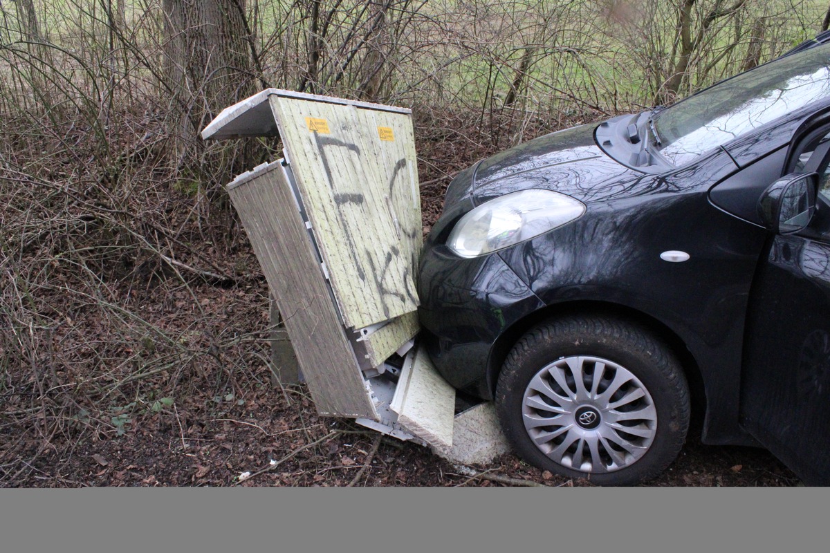
[[[262, 375], [263, 380], [267, 375]], [[512, 454], [486, 467], [453, 466], [428, 449], [379, 438], [349, 420], [315, 414], [304, 386], [263, 383], [241, 397], [197, 395], [136, 420], [123, 435], [56, 442], [4, 484], [88, 486], [584, 486]], [[694, 435], [694, 434], [693, 434]], [[36, 453], [37, 443], [30, 451]], [[793, 486], [763, 449], [713, 447], [691, 437], [648, 486]]]

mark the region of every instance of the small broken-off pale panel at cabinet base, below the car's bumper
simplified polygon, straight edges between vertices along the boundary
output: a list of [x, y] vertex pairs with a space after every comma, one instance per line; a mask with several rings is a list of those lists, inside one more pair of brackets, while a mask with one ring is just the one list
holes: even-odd
[[410, 355], [389, 408], [398, 413], [403, 428], [439, 451], [452, 451], [456, 390], [438, 374], [423, 347]]

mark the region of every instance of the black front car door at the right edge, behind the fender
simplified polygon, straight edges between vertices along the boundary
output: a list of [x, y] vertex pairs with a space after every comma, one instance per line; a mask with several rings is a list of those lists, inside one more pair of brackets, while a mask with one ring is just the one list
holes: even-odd
[[749, 297], [741, 421], [810, 485], [830, 484], [830, 127], [796, 143], [784, 172], [818, 172], [807, 228], [770, 235]]

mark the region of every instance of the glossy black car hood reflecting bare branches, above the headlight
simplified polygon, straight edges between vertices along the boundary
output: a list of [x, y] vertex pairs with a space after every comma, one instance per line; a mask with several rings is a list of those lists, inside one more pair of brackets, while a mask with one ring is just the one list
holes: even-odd
[[[523, 143], [479, 163], [470, 179], [453, 183], [467, 185], [476, 204], [509, 192], [544, 188], [597, 201], [624, 195], [625, 183], [642, 177], [615, 162], [593, 141], [596, 125], [582, 125]], [[466, 196], [452, 190], [452, 196]], [[449, 199], [451, 195], [447, 194]]]

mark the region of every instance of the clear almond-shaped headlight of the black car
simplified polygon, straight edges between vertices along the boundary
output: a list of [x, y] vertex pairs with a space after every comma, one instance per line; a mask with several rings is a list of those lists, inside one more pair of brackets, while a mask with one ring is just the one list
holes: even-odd
[[559, 192], [511, 192], [461, 217], [447, 245], [461, 257], [486, 255], [563, 226], [584, 212], [581, 201]]

